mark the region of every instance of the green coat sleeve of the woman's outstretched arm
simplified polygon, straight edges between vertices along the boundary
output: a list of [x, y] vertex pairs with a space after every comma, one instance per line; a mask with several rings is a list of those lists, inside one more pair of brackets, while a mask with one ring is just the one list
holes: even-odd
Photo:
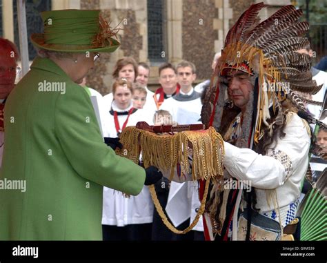
[[81, 177], [130, 195], [141, 192], [144, 169], [103, 142], [90, 98], [77, 84], [59, 95], [55, 122], [59, 143]]

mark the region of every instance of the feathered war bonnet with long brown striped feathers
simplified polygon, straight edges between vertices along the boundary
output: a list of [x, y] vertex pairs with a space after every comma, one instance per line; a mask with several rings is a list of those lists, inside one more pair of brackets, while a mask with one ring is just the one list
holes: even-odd
[[[273, 124], [283, 124], [286, 118], [281, 101], [288, 98], [295, 111], [306, 110], [301, 94], [313, 95], [321, 88], [312, 79], [310, 56], [297, 52], [310, 47], [308, 39], [302, 37], [309, 29], [307, 21], [299, 21], [302, 11], [292, 5], [284, 6], [258, 23], [262, 8], [266, 8], [264, 3], [253, 4], [229, 30], [221, 63], [217, 64], [201, 111], [204, 124], [221, 132], [224, 110], [230, 110], [226, 107], [230, 101], [226, 72], [234, 69], [252, 75], [255, 88], [236, 142], [241, 148], [252, 148], [253, 142], [257, 144], [264, 128], [271, 132]], [[269, 108], [277, 113], [273, 123]]]

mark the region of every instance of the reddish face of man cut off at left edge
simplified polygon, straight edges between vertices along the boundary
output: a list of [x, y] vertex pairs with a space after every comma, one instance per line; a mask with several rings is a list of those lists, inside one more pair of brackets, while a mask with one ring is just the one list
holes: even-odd
[[14, 52], [0, 47], [0, 99], [6, 99], [14, 88], [16, 66]]

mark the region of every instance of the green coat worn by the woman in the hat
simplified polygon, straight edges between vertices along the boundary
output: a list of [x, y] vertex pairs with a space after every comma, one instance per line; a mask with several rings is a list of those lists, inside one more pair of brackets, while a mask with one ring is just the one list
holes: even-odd
[[[40, 91], [45, 80], [66, 92]], [[37, 58], [5, 114], [0, 180], [26, 192], [0, 190], [0, 240], [102, 240], [102, 186], [137, 195], [145, 171], [103, 143], [86, 90]]]

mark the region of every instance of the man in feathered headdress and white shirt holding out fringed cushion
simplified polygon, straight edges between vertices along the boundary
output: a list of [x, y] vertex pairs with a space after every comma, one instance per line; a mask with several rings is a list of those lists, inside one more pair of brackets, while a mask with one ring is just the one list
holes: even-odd
[[321, 86], [310, 57], [296, 52], [310, 46], [301, 10], [284, 6], [257, 23], [264, 7], [250, 6], [228, 32], [204, 99], [202, 120], [225, 141], [224, 185], [212, 187], [205, 215], [211, 239], [281, 240], [294, 232], [287, 226], [308, 168], [308, 122], [315, 121], [295, 92], [315, 94]]

